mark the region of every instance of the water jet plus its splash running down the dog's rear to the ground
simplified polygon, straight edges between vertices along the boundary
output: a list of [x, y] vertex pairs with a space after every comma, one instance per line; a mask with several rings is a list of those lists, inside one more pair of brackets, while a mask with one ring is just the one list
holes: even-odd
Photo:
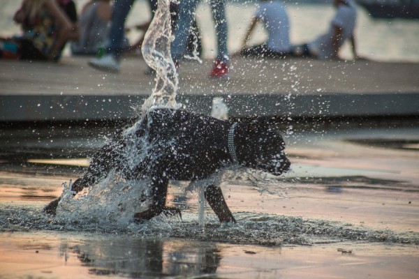
[[[155, 107], [177, 108], [177, 73], [170, 54], [172, 33], [170, 27], [170, 0], [158, 0], [158, 9], [147, 30], [142, 45], [142, 56], [147, 64], [156, 71], [156, 86], [151, 96], [141, 107], [141, 119], [124, 130], [125, 146], [113, 146], [122, 153], [124, 172], [134, 173], [144, 158], [153, 149], [145, 135], [138, 130], [146, 130], [147, 112]], [[120, 169], [119, 169], [120, 171]], [[101, 182], [89, 186], [82, 193], [74, 193], [71, 183], [64, 183], [64, 193], [57, 208], [57, 219], [68, 222], [84, 220], [105, 225], [126, 225], [132, 220], [133, 213], [144, 211], [149, 206], [149, 181], [128, 181], [121, 178], [115, 169]]]

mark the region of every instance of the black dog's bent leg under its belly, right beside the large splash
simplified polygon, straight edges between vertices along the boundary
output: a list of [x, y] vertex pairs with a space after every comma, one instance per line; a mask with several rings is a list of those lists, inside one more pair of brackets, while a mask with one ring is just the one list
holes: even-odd
[[166, 195], [168, 193], [169, 179], [163, 174], [152, 175], [152, 204], [146, 211], [134, 214], [135, 221], [150, 220], [155, 216], [159, 216], [166, 205]]

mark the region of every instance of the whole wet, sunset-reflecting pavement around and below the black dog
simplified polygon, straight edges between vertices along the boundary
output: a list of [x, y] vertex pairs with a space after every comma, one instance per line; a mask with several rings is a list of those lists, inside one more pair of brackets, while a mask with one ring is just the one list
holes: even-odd
[[293, 171], [263, 191], [263, 179], [226, 177], [237, 225], [207, 210], [205, 227], [182, 182], [168, 196], [182, 220], [121, 228], [43, 216], [110, 132], [3, 130], [0, 278], [417, 278], [419, 126], [333, 125], [288, 127]]

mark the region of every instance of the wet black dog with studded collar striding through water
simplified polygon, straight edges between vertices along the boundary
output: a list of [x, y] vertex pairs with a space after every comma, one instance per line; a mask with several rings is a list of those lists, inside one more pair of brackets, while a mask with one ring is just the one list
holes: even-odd
[[[170, 179], [198, 181], [232, 164], [280, 175], [291, 165], [281, 135], [254, 124], [221, 121], [182, 110], [155, 109], [147, 114], [145, 121], [131, 127], [131, 132], [121, 133], [105, 144], [72, 190], [80, 192], [101, 181], [112, 169], [126, 179], [149, 179], [151, 206], [135, 213], [135, 220], [149, 220], [162, 212], [180, 213], [179, 209], [165, 206]], [[139, 139], [151, 148], [144, 151], [144, 146], [135, 147]], [[127, 146], [133, 145], [134, 149], [127, 151]], [[127, 167], [132, 164], [128, 157], [133, 150], [142, 156], [136, 165]], [[235, 222], [218, 185], [207, 186], [205, 199], [220, 222]], [[58, 202], [59, 199], [51, 202], [44, 211], [54, 214]]]

